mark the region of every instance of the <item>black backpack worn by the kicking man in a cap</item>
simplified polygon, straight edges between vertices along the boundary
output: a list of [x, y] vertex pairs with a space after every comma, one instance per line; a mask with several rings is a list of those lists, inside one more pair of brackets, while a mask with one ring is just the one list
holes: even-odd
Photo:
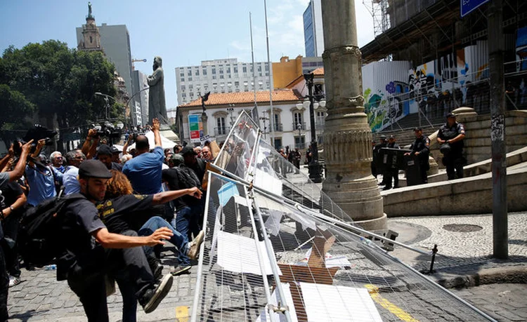
[[26, 266], [42, 267], [63, 253], [60, 229], [64, 220], [63, 207], [72, 201], [84, 199], [81, 194], [48, 199], [28, 209], [20, 220], [18, 250]]

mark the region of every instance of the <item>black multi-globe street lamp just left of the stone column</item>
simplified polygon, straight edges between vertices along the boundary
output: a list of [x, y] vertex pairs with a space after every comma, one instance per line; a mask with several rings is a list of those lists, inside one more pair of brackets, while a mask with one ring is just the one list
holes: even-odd
[[[322, 166], [318, 163], [318, 146], [317, 146], [317, 137], [315, 131], [315, 109], [320, 107], [325, 107], [325, 100], [323, 95], [313, 95], [313, 73], [304, 74], [304, 79], [306, 79], [306, 86], [308, 88], [308, 95], [306, 96], [307, 100], [302, 102], [304, 107], [309, 107], [309, 121], [311, 127], [311, 162], [308, 164], [309, 168], [309, 179], [311, 181], [318, 183], [322, 182]], [[316, 102], [315, 100], [320, 101]], [[297, 105], [298, 108], [298, 105]]]

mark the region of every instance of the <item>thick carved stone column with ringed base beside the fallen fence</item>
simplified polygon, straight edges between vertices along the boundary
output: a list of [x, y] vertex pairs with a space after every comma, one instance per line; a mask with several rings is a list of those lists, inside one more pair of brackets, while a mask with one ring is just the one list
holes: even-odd
[[327, 117], [323, 191], [365, 229], [386, 229], [372, 176], [372, 130], [363, 107], [361, 54], [353, 0], [322, 1]]

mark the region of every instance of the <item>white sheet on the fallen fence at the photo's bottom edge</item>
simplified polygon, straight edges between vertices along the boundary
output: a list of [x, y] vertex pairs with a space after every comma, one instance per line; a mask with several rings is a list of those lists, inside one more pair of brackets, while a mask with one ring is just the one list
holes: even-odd
[[300, 282], [308, 321], [382, 322], [365, 288]]

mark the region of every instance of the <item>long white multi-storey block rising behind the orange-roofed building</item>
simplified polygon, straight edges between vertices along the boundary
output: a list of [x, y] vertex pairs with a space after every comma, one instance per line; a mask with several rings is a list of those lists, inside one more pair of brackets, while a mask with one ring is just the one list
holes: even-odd
[[200, 98], [200, 94], [239, 93], [268, 90], [269, 65], [267, 62], [238, 62], [236, 58], [203, 60], [200, 66], [176, 67], [178, 105]]

